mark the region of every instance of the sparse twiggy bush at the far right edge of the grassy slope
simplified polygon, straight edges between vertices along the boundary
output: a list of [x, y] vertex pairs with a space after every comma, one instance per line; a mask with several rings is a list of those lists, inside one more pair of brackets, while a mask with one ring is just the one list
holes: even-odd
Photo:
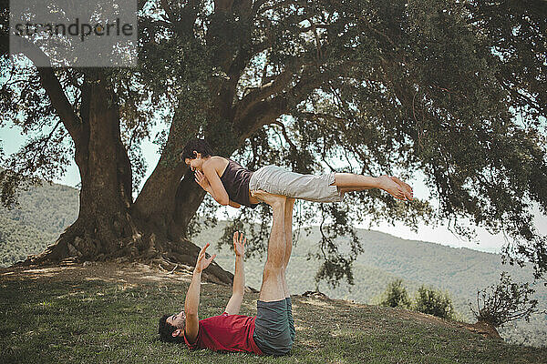
[[526, 319], [537, 312], [538, 300], [531, 299], [534, 290], [528, 283], [515, 283], [507, 272], [501, 272], [500, 283], [477, 292], [477, 310], [470, 307], [479, 321], [494, 328], [515, 319]]

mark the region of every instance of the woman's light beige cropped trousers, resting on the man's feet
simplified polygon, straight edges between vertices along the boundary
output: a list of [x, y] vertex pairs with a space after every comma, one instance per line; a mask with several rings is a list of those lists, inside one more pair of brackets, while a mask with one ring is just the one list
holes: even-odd
[[283, 167], [265, 166], [253, 172], [249, 190], [262, 189], [274, 195], [314, 202], [340, 202], [344, 193], [334, 183], [334, 173], [320, 176], [301, 175]]

